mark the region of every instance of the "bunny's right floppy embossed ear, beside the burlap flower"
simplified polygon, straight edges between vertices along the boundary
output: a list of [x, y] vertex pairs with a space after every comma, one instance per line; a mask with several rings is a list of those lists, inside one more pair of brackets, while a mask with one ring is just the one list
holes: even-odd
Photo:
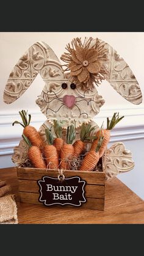
[[106, 80], [126, 100], [133, 104], [142, 103], [142, 92], [131, 68], [112, 46], [101, 40], [99, 42], [108, 49], [106, 68], [109, 73], [106, 75]]

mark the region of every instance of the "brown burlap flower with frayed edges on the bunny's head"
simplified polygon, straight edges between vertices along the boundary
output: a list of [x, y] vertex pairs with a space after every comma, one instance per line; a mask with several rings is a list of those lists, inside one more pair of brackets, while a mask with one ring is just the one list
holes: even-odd
[[98, 85], [105, 79], [104, 75], [108, 73], [104, 66], [107, 49], [99, 43], [99, 40], [85, 38], [82, 44], [81, 38], [74, 38], [66, 49], [69, 53], [64, 53], [61, 59], [67, 62], [65, 71], [70, 70], [72, 81], [92, 89], [93, 84]]

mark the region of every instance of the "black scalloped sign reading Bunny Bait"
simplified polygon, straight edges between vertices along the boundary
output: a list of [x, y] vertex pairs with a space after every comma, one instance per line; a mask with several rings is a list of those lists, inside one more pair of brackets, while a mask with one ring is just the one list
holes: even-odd
[[81, 206], [86, 202], [85, 181], [81, 177], [52, 178], [44, 176], [38, 180], [40, 186], [39, 202], [44, 205], [74, 205]]

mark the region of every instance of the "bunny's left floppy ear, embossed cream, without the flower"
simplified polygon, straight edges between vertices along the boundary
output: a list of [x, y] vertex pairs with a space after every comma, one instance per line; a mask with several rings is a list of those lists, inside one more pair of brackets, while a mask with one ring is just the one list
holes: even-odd
[[44, 42], [34, 43], [18, 60], [5, 86], [4, 102], [10, 104], [17, 100], [38, 73], [45, 82], [65, 79], [59, 59]]

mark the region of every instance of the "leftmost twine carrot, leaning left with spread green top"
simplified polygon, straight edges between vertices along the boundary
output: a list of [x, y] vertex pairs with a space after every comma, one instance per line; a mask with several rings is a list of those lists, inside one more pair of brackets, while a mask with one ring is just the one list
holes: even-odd
[[15, 123], [19, 123], [21, 126], [23, 126], [23, 134], [27, 137], [27, 139], [29, 139], [32, 145], [37, 146], [40, 148], [40, 150], [42, 150], [44, 142], [41, 139], [40, 134], [33, 126], [29, 125], [29, 123], [31, 122], [31, 115], [29, 114], [29, 118], [27, 118], [27, 111], [24, 110], [19, 111], [19, 114], [23, 123], [15, 121], [12, 125], [15, 125]]

